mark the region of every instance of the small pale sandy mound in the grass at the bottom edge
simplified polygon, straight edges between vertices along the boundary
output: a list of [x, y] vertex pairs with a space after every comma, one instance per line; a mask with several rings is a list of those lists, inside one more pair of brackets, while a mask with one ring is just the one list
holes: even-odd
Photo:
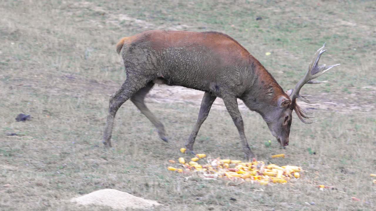
[[91, 192], [89, 194], [73, 198], [71, 202], [77, 202], [82, 205], [96, 204], [111, 206], [114, 209], [125, 208], [151, 208], [161, 205], [160, 203], [133, 196], [129, 193], [114, 189], [103, 189]]

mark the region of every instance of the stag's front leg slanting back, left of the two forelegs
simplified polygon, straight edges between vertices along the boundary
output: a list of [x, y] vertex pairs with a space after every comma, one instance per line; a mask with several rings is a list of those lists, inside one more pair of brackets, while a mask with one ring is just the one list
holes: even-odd
[[211, 108], [215, 98], [217, 98], [217, 97], [212, 95], [209, 92], [204, 93], [204, 96], [203, 96], [202, 101], [201, 101], [199, 117], [197, 118], [196, 125], [194, 125], [192, 133], [191, 133], [189, 139], [185, 143], [185, 147], [192, 154], [194, 154], [193, 144], [194, 144], [194, 141], [196, 140], [197, 133], [199, 133], [201, 125], [203, 124], [205, 119], [208, 117], [209, 112], [210, 112], [210, 108]]

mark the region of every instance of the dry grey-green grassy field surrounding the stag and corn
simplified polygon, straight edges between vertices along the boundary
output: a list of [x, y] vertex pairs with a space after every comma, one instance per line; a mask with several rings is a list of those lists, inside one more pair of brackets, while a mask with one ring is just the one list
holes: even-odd
[[[375, 12], [373, 1], [0, 2], [0, 210], [111, 210], [69, 202], [104, 188], [163, 204], [155, 210], [374, 210], [376, 185], [369, 174], [376, 173]], [[166, 144], [126, 102], [117, 113], [114, 149], [105, 150], [100, 141], [108, 98], [126, 78], [115, 44], [149, 29], [227, 33], [284, 89], [294, 87], [327, 42], [321, 63], [341, 66], [322, 76], [328, 83], [304, 91], [317, 93], [321, 105], [338, 106], [314, 110], [318, 122], [312, 125], [294, 115], [286, 149], [261, 116], [241, 111], [258, 159], [302, 166], [302, 178], [227, 186], [168, 172], [167, 160], [181, 155], [199, 112], [188, 103], [148, 104], [167, 128]], [[18, 113], [33, 119], [15, 122]], [[243, 158], [226, 110], [212, 109], [195, 149]], [[279, 153], [289, 157], [270, 160]], [[320, 191], [319, 184], [335, 189]]]

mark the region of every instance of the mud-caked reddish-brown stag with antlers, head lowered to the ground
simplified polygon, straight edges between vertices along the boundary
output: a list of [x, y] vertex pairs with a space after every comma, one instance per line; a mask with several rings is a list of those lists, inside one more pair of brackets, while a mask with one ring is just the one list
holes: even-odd
[[287, 146], [293, 110], [302, 122], [312, 123], [303, 119], [313, 116], [306, 115], [308, 112], [299, 107], [296, 98], [308, 103], [315, 102], [300, 95], [300, 89], [306, 83], [326, 82], [313, 79], [339, 65], [318, 66], [318, 60], [325, 52], [323, 48], [315, 53], [308, 72], [295, 89], [284, 92], [255, 57], [223, 33], [152, 30], [125, 37], [117, 44], [117, 52], [120, 54], [123, 50], [127, 79], [109, 99], [103, 144], [111, 147], [116, 112], [129, 98], [157, 128], [159, 137], [167, 142], [163, 124], [144, 102], [153, 85], [163, 83], [205, 92], [196, 125], [185, 143], [188, 152], [193, 153], [197, 133], [217, 97], [223, 99], [238, 129], [246, 159], [254, 155], [244, 133], [237, 98], [243, 100], [250, 110], [258, 112], [280, 145]]

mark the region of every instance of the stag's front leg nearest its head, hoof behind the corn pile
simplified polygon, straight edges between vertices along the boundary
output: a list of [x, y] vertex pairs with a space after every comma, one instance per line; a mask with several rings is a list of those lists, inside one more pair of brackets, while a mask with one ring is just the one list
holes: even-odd
[[223, 97], [224, 105], [226, 105], [227, 111], [229, 112], [232, 121], [234, 122], [235, 126], [238, 128], [238, 132], [240, 135], [240, 139], [243, 145], [243, 152], [244, 157], [246, 160], [249, 160], [251, 157], [254, 157], [253, 152], [249, 148], [246, 135], [244, 134], [244, 124], [243, 124], [243, 118], [241, 117], [239, 108], [238, 108], [238, 102], [236, 97]]

